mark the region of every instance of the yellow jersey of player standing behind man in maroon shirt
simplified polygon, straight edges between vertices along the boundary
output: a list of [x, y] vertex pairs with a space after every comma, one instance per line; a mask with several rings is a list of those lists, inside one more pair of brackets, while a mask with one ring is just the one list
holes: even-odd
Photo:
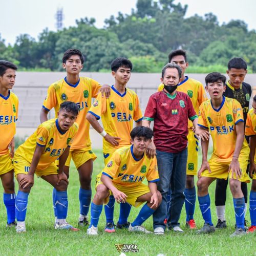
[[[197, 115], [199, 113], [199, 106], [202, 102], [207, 100], [207, 96], [204, 91], [203, 84], [198, 80], [193, 78], [186, 78], [178, 84], [177, 91], [186, 93], [192, 101], [194, 110], [196, 111]], [[164, 88], [163, 83], [161, 83], [158, 87], [158, 92], [162, 91]], [[188, 120], [188, 129], [192, 129], [193, 123]]]

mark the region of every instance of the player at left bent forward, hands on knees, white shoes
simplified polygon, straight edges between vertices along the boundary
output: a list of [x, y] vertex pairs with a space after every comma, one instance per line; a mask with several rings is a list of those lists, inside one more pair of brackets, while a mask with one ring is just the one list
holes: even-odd
[[[75, 123], [78, 106], [66, 101], [60, 104], [58, 118], [41, 123], [37, 130], [22, 144], [14, 154], [14, 172], [18, 181], [18, 194], [15, 199], [17, 218], [16, 232], [26, 232], [25, 218], [30, 189], [34, 184], [34, 174], [50, 183], [55, 189], [55, 208], [57, 222], [55, 229], [77, 231], [67, 223], [68, 179], [63, 172], [69, 155], [70, 145], [78, 131]], [[59, 158], [59, 166], [55, 160]]]

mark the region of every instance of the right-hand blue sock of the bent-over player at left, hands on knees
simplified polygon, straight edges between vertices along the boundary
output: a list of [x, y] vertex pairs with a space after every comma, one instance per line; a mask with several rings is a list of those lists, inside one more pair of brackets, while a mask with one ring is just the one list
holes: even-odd
[[57, 219], [63, 220], [67, 218], [68, 215], [68, 193], [66, 191], [56, 190], [55, 195], [55, 207], [57, 213]]

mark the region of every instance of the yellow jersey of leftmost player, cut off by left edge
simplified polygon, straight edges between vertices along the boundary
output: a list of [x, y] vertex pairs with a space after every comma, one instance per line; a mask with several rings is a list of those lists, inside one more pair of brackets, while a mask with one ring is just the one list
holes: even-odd
[[8, 145], [16, 133], [18, 97], [9, 90], [7, 97], [0, 94], [0, 156], [8, 154]]

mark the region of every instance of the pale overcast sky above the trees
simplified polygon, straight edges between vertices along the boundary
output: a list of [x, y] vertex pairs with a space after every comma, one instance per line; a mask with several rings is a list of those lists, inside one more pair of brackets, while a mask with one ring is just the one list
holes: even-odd
[[[29, 34], [35, 39], [46, 27], [56, 31], [55, 14], [57, 8], [63, 8], [63, 25], [75, 25], [75, 20], [83, 17], [96, 18], [96, 27], [104, 26], [104, 19], [117, 15], [118, 11], [131, 14], [137, 0], [0, 0], [0, 34], [6, 44], [14, 44], [19, 34]], [[256, 29], [256, 0], [175, 0], [175, 3], [187, 4], [186, 17], [205, 13], [214, 13], [219, 23], [228, 23], [231, 19], [242, 19], [248, 29]]]

